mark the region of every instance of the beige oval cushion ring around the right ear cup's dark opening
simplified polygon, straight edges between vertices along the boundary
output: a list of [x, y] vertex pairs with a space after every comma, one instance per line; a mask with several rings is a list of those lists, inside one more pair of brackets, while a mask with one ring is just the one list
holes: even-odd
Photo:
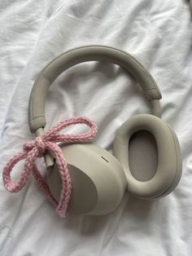
[[[135, 179], [129, 169], [129, 141], [139, 130], [151, 132], [155, 137], [158, 153], [156, 173], [144, 182]], [[181, 179], [181, 149], [177, 135], [159, 117], [142, 114], [125, 121], [116, 132], [114, 155], [124, 168], [127, 190], [134, 196], [149, 200], [165, 196], [176, 188]]]

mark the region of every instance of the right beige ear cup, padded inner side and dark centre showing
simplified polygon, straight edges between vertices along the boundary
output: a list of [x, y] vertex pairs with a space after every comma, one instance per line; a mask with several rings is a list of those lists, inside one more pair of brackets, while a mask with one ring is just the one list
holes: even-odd
[[[141, 145], [139, 144], [139, 133], [142, 131]], [[146, 139], [143, 136], [146, 135]], [[131, 139], [137, 137], [135, 145], [132, 145], [133, 153], [129, 150], [131, 147]], [[155, 146], [151, 147], [151, 141], [146, 143], [152, 137]], [[143, 144], [146, 146], [143, 147]], [[148, 160], [147, 157], [148, 153]], [[149, 152], [151, 152], [151, 159]], [[137, 151], [140, 151], [140, 158]], [[146, 151], [146, 152], [145, 152]], [[168, 124], [160, 119], [148, 114], [137, 115], [125, 121], [119, 130], [116, 132], [114, 141], [114, 155], [123, 166], [128, 187], [127, 191], [134, 196], [143, 199], [155, 199], [160, 196], [165, 196], [176, 188], [177, 183], [181, 179], [181, 150], [177, 139], [177, 135]], [[135, 155], [135, 157], [134, 157]], [[129, 159], [134, 157], [135, 159]], [[134, 163], [134, 161], [137, 161]], [[155, 167], [155, 174], [143, 174], [138, 179], [138, 174], [133, 175], [131, 166], [142, 171], [149, 168], [146, 161], [151, 161], [151, 166]], [[147, 170], [146, 170], [147, 171]], [[147, 179], [145, 176], [148, 176]], [[144, 178], [143, 178], [144, 177]]]

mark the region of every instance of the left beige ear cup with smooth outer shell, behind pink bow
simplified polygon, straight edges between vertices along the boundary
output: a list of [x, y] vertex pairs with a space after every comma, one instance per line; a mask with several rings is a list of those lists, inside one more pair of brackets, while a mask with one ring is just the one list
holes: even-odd
[[[107, 150], [93, 143], [62, 148], [72, 179], [68, 211], [75, 214], [108, 214], [119, 205], [127, 187], [122, 166]], [[48, 170], [48, 185], [59, 201], [61, 179], [57, 164]]]

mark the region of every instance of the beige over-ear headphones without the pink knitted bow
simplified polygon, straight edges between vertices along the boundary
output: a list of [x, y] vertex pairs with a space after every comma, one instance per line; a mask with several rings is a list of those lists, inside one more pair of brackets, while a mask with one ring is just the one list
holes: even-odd
[[[32, 133], [41, 135], [46, 126], [45, 104], [50, 85], [61, 73], [76, 64], [86, 61], [108, 61], [126, 69], [136, 78], [146, 98], [151, 104], [152, 114], [139, 114], [129, 118], [116, 131], [113, 155], [94, 143], [73, 143], [61, 145], [63, 156], [68, 163], [72, 179], [72, 195], [68, 211], [76, 214], [108, 214], [120, 204], [124, 192], [145, 200], [166, 196], [177, 187], [181, 179], [181, 149], [177, 135], [165, 121], [160, 111], [161, 94], [151, 74], [137, 60], [125, 51], [109, 46], [82, 46], [66, 51], [52, 60], [37, 77], [30, 95], [28, 121]], [[142, 137], [139, 133], [142, 133]], [[130, 168], [145, 162], [137, 156], [141, 145], [130, 144], [134, 136], [144, 138], [144, 151], [147, 141], [154, 138], [157, 150], [156, 171], [149, 179], [137, 179]], [[146, 143], [146, 144], [145, 144]], [[151, 150], [151, 149], [150, 149]], [[150, 161], [155, 156], [151, 151]], [[132, 157], [132, 159], [130, 158]], [[141, 161], [141, 162], [140, 162]], [[61, 178], [57, 163], [50, 154], [46, 155], [47, 183], [52, 195], [59, 200]]]

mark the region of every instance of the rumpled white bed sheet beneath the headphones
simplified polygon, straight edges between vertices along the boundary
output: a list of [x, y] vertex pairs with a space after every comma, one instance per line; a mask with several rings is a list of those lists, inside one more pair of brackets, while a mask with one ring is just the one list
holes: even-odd
[[[75, 46], [105, 44], [128, 51], [162, 92], [163, 117], [181, 142], [183, 175], [159, 201], [124, 196], [106, 216], [60, 219], [33, 179], [19, 193], [0, 182], [0, 254], [192, 254], [192, 24], [185, 0], [17, 0], [0, 2], [0, 170], [28, 139], [33, 81], [53, 57]], [[51, 86], [47, 128], [72, 116], [98, 124], [95, 142], [111, 150], [116, 129], [150, 108], [137, 83], [112, 64], [81, 64]], [[16, 178], [22, 165], [15, 167]]]

